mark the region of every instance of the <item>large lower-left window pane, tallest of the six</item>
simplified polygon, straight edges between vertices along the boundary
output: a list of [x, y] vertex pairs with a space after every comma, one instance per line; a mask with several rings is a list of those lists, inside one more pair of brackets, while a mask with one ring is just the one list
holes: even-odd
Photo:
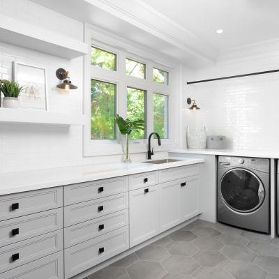
[[114, 140], [116, 84], [91, 80], [91, 140]]

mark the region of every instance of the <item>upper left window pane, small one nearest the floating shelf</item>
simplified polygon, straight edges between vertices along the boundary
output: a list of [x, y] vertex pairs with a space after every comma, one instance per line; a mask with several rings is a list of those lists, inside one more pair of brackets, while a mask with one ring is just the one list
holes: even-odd
[[116, 70], [116, 54], [91, 47], [91, 64], [100, 68]]

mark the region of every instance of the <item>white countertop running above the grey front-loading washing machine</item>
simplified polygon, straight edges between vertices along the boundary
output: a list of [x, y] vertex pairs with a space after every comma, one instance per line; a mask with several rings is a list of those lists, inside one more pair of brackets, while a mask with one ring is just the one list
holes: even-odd
[[279, 151], [234, 150], [234, 149], [172, 149], [169, 153], [223, 155], [255, 158], [279, 158]]

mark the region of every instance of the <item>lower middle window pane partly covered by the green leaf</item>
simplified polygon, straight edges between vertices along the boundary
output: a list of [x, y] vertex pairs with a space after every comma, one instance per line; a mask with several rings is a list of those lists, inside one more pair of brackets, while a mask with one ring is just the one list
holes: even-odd
[[[144, 120], [146, 127], [146, 92], [140, 89], [128, 87], [127, 89], [127, 119], [129, 120]], [[140, 131], [133, 131], [130, 134], [131, 139], [145, 139], [146, 129]]]

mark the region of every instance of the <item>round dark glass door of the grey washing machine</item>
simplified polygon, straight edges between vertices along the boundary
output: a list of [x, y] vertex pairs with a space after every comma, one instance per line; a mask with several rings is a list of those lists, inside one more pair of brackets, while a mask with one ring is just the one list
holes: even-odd
[[262, 181], [248, 169], [230, 169], [220, 181], [220, 195], [233, 211], [250, 213], [264, 202]]

